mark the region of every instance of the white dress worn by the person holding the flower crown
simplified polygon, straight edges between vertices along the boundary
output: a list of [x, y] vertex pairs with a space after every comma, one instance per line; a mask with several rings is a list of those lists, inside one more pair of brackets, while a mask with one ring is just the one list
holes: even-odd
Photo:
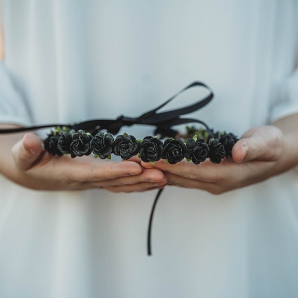
[[[194, 80], [215, 98], [191, 116], [217, 130], [241, 136], [298, 112], [297, 0], [1, 2], [2, 122], [138, 116]], [[151, 257], [156, 191], [0, 186], [1, 298], [298, 297], [294, 170], [220, 196], [166, 187]]]

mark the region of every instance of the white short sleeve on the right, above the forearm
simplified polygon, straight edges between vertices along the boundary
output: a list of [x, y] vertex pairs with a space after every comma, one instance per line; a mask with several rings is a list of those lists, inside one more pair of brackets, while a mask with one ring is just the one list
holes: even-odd
[[271, 108], [270, 122], [298, 113], [298, 68], [281, 84], [281, 101]]

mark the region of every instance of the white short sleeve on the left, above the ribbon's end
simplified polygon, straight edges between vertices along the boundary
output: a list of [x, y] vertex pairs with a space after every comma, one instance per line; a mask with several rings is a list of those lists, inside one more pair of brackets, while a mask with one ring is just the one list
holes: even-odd
[[0, 122], [28, 126], [31, 124], [28, 108], [13, 86], [11, 76], [0, 61]]

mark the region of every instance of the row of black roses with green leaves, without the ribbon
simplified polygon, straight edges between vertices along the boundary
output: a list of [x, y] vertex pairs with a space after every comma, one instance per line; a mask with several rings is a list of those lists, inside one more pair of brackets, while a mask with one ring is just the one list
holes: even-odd
[[73, 158], [93, 152], [94, 157], [100, 159], [111, 159], [111, 154], [125, 160], [138, 155], [144, 162], [154, 163], [165, 159], [175, 164], [186, 158], [186, 161], [199, 164], [207, 158], [213, 163], [220, 163], [224, 157], [231, 156], [232, 147], [237, 141], [232, 133], [215, 133], [202, 128], [197, 130], [195, 127], [186, 127], [186, 130], [185, 141], [167, 138], [162, 142], [151, 136], [143, 140], [126, 133], [116, 138], [109, 132], [98, 132], [93, 136], [83, 130], [57, 127], [45, 139], [45, 149], [53, 155], [71, 154]]

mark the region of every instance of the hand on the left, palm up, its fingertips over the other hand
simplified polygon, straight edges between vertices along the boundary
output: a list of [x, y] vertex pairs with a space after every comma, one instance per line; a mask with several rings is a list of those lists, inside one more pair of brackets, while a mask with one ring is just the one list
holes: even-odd
[[[0, 151], [3, 154], [3, 148]], [[2, 166], [1, 171], [18, 184], [32, 189], [105, 188], [112, 192], [133, 192], [160, 188], [166, 183], [160, 170], [144, 169], [133, 161], [124, 163], [95, 160], [93, 156], [53, 156], [44, 150], [42, 140], [31, 133], [13, 146], [12, 157], [11, 162], [5, 162], [8, 169]], [[6, 159], [9, 160], [9, 154]]]

